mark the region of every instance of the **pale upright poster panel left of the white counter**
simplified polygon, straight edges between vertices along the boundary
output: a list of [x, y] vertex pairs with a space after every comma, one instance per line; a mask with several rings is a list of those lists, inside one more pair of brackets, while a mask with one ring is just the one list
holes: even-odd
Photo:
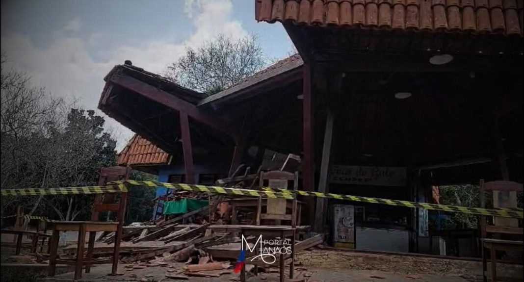
[[355, 248], [353, 205], [333, 205], [333, 243], [335, 247]]

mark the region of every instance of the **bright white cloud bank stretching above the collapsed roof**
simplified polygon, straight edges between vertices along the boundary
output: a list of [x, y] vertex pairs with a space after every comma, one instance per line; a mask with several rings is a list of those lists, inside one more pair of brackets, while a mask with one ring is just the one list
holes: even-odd
[[[194, 32], [182, 43], [151, 41], [141, 46], [120, 46], [110, 59], [95, 61], [86, 45], [96, 45], [104, 34], [95, 33], [88, 40], [74, 37], [81, 28], [80, 17], [69, 21], [45, 49], [35, 47], [26, 35], [2, 34], [2, 50], [6, 51], [15, 67], [29, 72], [36, 85], [45, 86], [53, 95], [69, 101], [78, 99], [86, 109], [95, 109], [104, 87], [104, 75], [115, 64], [131, 60], [135, 66], [162, 73], [170, 62], [183, 55], [185, 46], [196, 47], [218, 34], [233, 38], [247, 36], [241, 23], [232, 20], [231, 0], [186, 0]], [[67, 32], [65, 32], [67, 31]], [[132, 135], [129, 129], [106, 117], [107, 126], [115, 129], [118, 148]]]

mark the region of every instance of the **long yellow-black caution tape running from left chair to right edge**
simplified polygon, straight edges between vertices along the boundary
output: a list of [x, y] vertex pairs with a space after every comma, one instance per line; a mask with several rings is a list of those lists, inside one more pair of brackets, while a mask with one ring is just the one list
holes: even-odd
[[[114, 183], [128, 183], [129, 185], [133, 185], [133, 186], [166, 187], [170, 189], [183, 189], [183, 190], [193, 191], [193, 192], [230, 194], [230, 195], [235, 195], [235, 196], [255, 196], [255, 197], [285, 198], [285, 199], [294, 199], [295, 198], [293, 191], [286, 190], [286, 189], [263, 188], [261, 191], [259, 191], [259, 190], [249, 190], [249, 189], [236, 189], [236, 188], [224, 188], [224, 187], [215, 187], [215, 186], [174, 184], [174, 183], [165, 183], [165, 182], [156, 182], [156, 181], [136, 181], [136, 180], [123, 180], [123, 181], [117, 181]], [[330, 198], [330, 199], [339, 199], [339, 200], [366, 202], [366, 203], [375, 203], [375, 204], [396, 205], [396, 206], [407, 207], [407, 208], [423, 208], [423, 209], [428, 209], [428, 210], [439, 210], [439, 211], [447, 211], [447, 212], [492, 215], [492, 216], [500, 216], [504, 218], [522, 218], [522, 210], [520, 209], [470, 208], [470, 207], [459, 207], [456, 205], [419, 203], [419, 202], [359, 197], [359, 196], [333, 194], [333, 193], [310, 192], [310, 191], [302, 191], [302, 190], [298, 190], [297, 194], [300, 196]]]

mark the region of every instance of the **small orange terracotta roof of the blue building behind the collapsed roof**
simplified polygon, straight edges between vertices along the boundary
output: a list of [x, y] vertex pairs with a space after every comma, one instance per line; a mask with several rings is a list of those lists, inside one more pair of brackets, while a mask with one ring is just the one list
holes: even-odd
[[170, 156], [147, 139], [133, 136], [126, 147], [118, 154], [119, 166], [167, 165]]

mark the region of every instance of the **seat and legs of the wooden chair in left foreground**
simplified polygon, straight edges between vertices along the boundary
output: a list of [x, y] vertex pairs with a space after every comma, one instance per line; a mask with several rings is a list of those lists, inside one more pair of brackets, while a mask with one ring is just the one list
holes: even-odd
[[[109, 231], [116, 232], [118, 222], [97, 222], [97, 221], [53, 221], [51, 223], [51, 230], [53, 235], [49, 244], [50, 258], [49, 258], [49, 276], [54, 276], [57, 264], [74, 265], [74, 279], [82, 278], [82, 268], [85, 267], [85, 273], [90, 272], [90, 266], [94, 264], [110, 263], [111, 260], [107, 259], [93, 259], [94, 250], [94, 234], [97, 231]], [[57, 259], [58, 242], [60, 241], [60, 231], [78, 231], [78, 244], [77, 244], [77, 258], [71, 259]], [[85, 249], [85, 235], [90, 233], [88, 254], [86, 261], [84, 261], [84, 249]], [[113, 251], [113, 270], [118, 265], [118, 253], [119, 253], [119, 242], [115, 242]]]

